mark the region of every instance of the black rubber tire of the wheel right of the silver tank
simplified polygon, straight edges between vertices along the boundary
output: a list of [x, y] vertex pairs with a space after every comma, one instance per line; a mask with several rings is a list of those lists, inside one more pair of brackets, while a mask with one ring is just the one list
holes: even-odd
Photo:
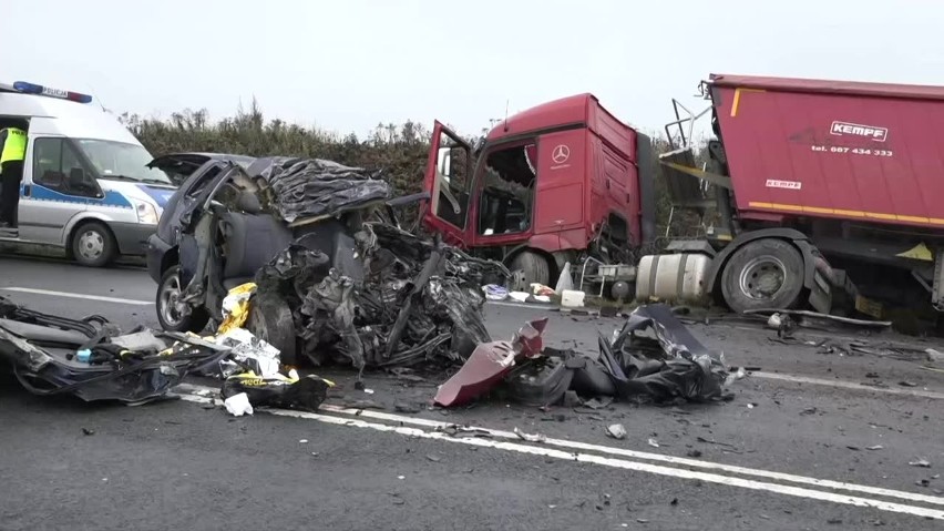
[[[776, 258], [783, 265], [783, 282], [773, 296], [753, 298], [741, 289], [741, 272], [751, 261], [765, 256]], [[739, 314], [749, 309], [790, 309], [801, 300], [804, 275], [803, 255], [793, 244], [776, 238], [757, 239], [736, 251], [725, 264], [721, 272], [721, 295], [728, 307]]]

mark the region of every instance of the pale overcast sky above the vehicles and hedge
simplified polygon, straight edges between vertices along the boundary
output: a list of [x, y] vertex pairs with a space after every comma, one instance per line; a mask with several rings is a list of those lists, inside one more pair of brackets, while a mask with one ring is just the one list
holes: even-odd
[[[263, 7], [267, 6], [267, 7]], [[909, 0], [23, 0], [0, 79], [91, 92], [115, 112], [269, 118], [365, 133], [593, 92], [660, 129], [711, 72], [944, 84], [944, 2]]]

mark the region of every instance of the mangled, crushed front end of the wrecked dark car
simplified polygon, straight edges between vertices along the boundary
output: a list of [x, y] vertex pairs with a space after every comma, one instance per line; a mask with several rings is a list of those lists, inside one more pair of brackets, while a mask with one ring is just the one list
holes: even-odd
[[[325, 244], [334, 258], [308, 247], [340, 242], [334, 231], [299, 238], [256, 275], [257, 293], [276, 293], [293, 309], [302, 353], [316, 366], [460, 365], [491, 341], [480, 286], [501, 278], [504, 266], [380, 223], [359, 225], [352, 245]], [[360, 278], [336, 267], [351, 259]]]

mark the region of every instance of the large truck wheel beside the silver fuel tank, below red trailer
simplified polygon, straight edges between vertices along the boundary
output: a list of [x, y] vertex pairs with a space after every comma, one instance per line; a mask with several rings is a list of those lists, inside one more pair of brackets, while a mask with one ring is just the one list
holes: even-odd
[[736, 251], [721, 272], [721, 295], [733, 312], [789, 309], [803, 293], [803, 255], [789, 242], [757, 239]]

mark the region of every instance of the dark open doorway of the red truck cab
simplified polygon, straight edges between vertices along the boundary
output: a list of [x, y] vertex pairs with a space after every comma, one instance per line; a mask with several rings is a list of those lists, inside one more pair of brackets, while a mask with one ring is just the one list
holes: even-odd
[[479, 195], [479, 234], [514, 234], [531, 227], [537, 181], [536, 144], [489, 153]]

